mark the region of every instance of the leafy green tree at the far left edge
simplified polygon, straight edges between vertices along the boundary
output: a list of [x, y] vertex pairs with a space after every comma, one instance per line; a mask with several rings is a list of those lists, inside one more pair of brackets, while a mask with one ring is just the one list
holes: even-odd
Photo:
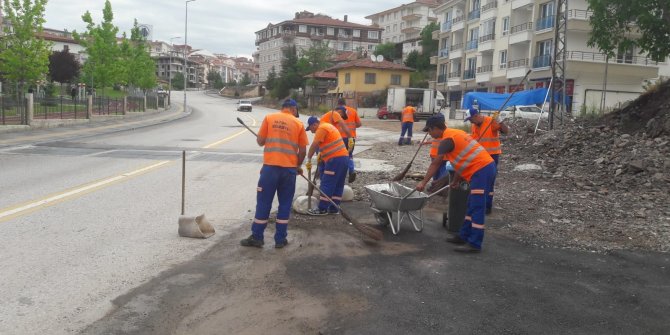
[[47, 0], [4, 0], [4, 48], [0, 51], [0, 72], [16, 82], [19, 94], [26, 85], [44, 79], [49, 71], [50, 44], [36, 37], [44, 24]]

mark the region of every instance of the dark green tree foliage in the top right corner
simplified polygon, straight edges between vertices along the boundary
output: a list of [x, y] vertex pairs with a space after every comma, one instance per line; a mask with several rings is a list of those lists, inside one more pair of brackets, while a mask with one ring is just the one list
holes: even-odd
[[[593, 11], [588, 45], [610, 57], [637, 47], [655, 61], [670, 55], [670, 1], [588, 0]], [[636, 36], [636, 33], [641, 36]]]

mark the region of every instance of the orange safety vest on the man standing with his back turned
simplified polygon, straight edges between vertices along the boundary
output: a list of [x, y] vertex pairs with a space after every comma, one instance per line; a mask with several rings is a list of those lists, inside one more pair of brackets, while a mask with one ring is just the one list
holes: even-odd
[[307, 144], [305, 127], [290, 112], [269, 114], [263, 119], [258, 136], [265, 137], [263, 164], [298, 166], [298, 150]]

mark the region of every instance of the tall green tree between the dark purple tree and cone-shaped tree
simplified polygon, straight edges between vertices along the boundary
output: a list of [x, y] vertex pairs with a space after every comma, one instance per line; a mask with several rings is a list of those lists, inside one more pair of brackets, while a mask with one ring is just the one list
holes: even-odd
[[117, 43], [119, 28], [112, 23], [114, 13], [109, 0], [105, 0], [102, 10], [102, 22], [93, 23], [91, 13], [86, 11], [82, 20], [86, 23], [86, 32], [73, 32], [77, 42], [86, 48], [88, 59], [84, 63], [84, 78], [92, 87], [104, 88], [117, 81], [123, 81], [123, 66], [119, 62], [120, 49]]

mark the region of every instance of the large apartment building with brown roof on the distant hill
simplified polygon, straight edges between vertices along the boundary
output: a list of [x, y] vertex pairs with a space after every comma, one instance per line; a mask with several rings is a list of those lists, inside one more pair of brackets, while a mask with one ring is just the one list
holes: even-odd
[[268, 24], [256, 32], [259, 80], [265, 81], [272, 68], [281, 71], [282, 50], [290, 45], [300, 50], [308, 49], [315, 42], [328, 43], [335, 52], [374, 50], [381, 41], [382, 29], [333, 19], [330, 16], [303, 11], [292, 20]]

